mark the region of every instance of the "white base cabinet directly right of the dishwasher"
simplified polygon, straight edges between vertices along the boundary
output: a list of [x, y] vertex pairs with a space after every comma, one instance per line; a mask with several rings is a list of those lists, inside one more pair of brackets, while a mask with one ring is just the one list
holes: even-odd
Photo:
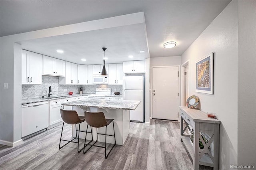
[[60, 109], [62, 109], [62, 99], [49, 101], [49, 125], [61, 122]]

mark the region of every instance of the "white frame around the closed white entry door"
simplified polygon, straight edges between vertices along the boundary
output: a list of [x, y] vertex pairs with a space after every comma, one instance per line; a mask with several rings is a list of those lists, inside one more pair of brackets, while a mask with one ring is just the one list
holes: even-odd
[[180, 121], [180, 109], [179, 109], [179, 106], [180, 106], [180, 65], [166, 65], [166, 66], [152, 66], [151, 67], [151, 71], [150, 71], [150, 98], [151, 98], [151, 114], [150, 114], [150, 119], [153, 119], [153, 97], [152, 97], [152, 94], [153, 94], [153, 91], [152, 91], [152, 82], [153, 82], [153, 68], [159, 68], [159, 67], [178, 67], [178, 122]]

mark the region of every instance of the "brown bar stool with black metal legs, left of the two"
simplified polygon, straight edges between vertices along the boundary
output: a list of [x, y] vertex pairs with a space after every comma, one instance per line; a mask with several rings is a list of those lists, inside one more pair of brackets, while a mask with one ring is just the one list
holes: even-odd
[[[66, 146], [70, 142], [73, 142], [73, 143], [77, 143], [77, 152], [80, 153], [81, 150], [84, 149], [84, 148], [79, 150], [79, 134], [80, 134], [80, 132], [86, 132], [86, 134], [87, 134], [87, 129], [86, 129], [86, 131], [80, 130], [80, 124], [85, 121], [84, 116], [78, 116], [76, 111], [68, 111], [68, 110], [63, 110], [63, 109], [60, 109], [60, 115], [61, 115], [61, 118], [63, 120], [63, 125], [62, 125], [62, 130], [61, 130], [61, 135], [60, 135], [60, 142], [63, 140], [63, 141], [66, 141], [68, 143], [64, 144], [63, 146], [60, 146], [60, 144], [59, 144], [59, 149], [63, 148], [64, 146]], [[79, 123], [79, 128], [78, 128], [78, 130], [76, 129], [76, 137], [77, 137], [77, 131], [78, 131], [78, 142], [73, 141], [74, 139], [76, 139], [76, 137], [73, 138], [72, 140], [61, 139], [64, 123], [67, 123], [67, 124], [70, 124], [70, 125], [75, 125], [75, 126], [76, 126], [76, 124]], [[92, 134], [92, 127], [91, 127], [91, 132], [88, 132], [88, 133]], [[93, 138], [92, 138], [92, 140], [93, 140]], [[92, 142], [92, 140], [90, 142]]]

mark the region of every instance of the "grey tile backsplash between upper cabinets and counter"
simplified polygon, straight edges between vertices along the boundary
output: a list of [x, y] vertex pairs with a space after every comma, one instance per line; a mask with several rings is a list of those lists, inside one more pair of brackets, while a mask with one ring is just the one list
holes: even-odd
[[[73, 91], [74, 94], [79, 93], [79, 87], [82, 87], [83, 93], [95, 93], [96, 88], [111, 88], [111, 93], [114, 94], [114, 89], [122, 93], [122, 85], [59, 85], [59, 77], [42, 75], [41, 85], [22, 85], [22, 99], [32, 99], [42, 96], [48, 96], [49, 86], [52, 87], [52, 96], [68, 95], [68, 92]], [[64, 92], [64, 89], [67, 89]]]

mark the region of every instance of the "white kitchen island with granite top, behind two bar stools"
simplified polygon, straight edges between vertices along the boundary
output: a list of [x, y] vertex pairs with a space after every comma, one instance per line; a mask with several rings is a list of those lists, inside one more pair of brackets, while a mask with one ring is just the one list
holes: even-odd
[[[135, 100], [121, 100], [111, 101], [106, 99], [84, 99], [81, 101], [74, 101], [63, 103], [62, 105], [72, 106], [79, 116], [84, 116], [84, 111], [103, 112], [106, 119], [114, 119], [116, 144], [123, 145], [130, 129], [130, 110], [135, 110], [140, 101]], [[87, 123], [81, 123], [80, 130], [86, 130]], [[88, 128], [88, 131], [89, 128]], [[99, 133], [105, 133], [105, 128], [98, 128]], [[73, 127], [73, 136], [75, 136], [75, 128]], [[93, 139], [96, 139], [96, 128], [92, 128]], [[114, 134], [113, 128], [107, 128], [107, 134]], [[80, 132], [80, 138], [85, 138], [85, 134]], [[91, 135], [87, 135], [87, 140], [91, 140]], [[105, 136], [98, 135], [99, 142], [105, 142]], [[108, 143], [114, 143], [114, 138], [107, 136]]]

